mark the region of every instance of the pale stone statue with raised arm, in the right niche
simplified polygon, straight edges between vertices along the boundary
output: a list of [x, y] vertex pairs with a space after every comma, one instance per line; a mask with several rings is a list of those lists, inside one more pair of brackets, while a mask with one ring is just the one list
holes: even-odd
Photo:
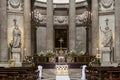
[[101, 29], [101, 32], [103, 32], [104, 37], [103, 37], [103, 41], [102, 44], [104, 47], [111, 47], [112, 45], [112, 30], [108, 27], [108, 19], [105, 20], [106, 21], [106, 27], [104, 28], [104, 30]]

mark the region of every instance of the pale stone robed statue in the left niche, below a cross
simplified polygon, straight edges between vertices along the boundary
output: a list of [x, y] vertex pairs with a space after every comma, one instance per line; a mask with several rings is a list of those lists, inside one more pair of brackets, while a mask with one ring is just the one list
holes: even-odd
[[21, 47], [21, 31], [16, 24], [17, 20], [14, 19], [14, 29], [13, 29], [13, 42], [12, 42], [12, 47], [13, 48], [20, 48]]

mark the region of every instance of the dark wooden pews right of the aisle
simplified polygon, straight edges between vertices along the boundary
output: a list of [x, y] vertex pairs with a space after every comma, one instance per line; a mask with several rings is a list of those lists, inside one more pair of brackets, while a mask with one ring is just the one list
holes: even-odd
[[88, 67], [87, 80], [120, 80], [120, 67]]

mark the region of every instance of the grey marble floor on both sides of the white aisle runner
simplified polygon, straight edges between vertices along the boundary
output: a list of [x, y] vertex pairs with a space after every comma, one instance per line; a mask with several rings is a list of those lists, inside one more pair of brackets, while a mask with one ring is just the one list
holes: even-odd
[[[69, 77], [70, 80], [81, 80], [81, 69], [69, 69]], [[42, 76], [44, 79], [42, 80], [55, 80], [56, 74], [55, 69], [43, 69]]]

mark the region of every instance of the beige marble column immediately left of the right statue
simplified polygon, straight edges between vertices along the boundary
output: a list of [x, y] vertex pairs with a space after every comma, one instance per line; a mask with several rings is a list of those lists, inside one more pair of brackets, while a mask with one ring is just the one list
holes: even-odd
[[96, 55], [98, 53], [97, 48], [99, 48], [99, 15], [98, 15], [98, 0], [92, 0], [92, 55]]

